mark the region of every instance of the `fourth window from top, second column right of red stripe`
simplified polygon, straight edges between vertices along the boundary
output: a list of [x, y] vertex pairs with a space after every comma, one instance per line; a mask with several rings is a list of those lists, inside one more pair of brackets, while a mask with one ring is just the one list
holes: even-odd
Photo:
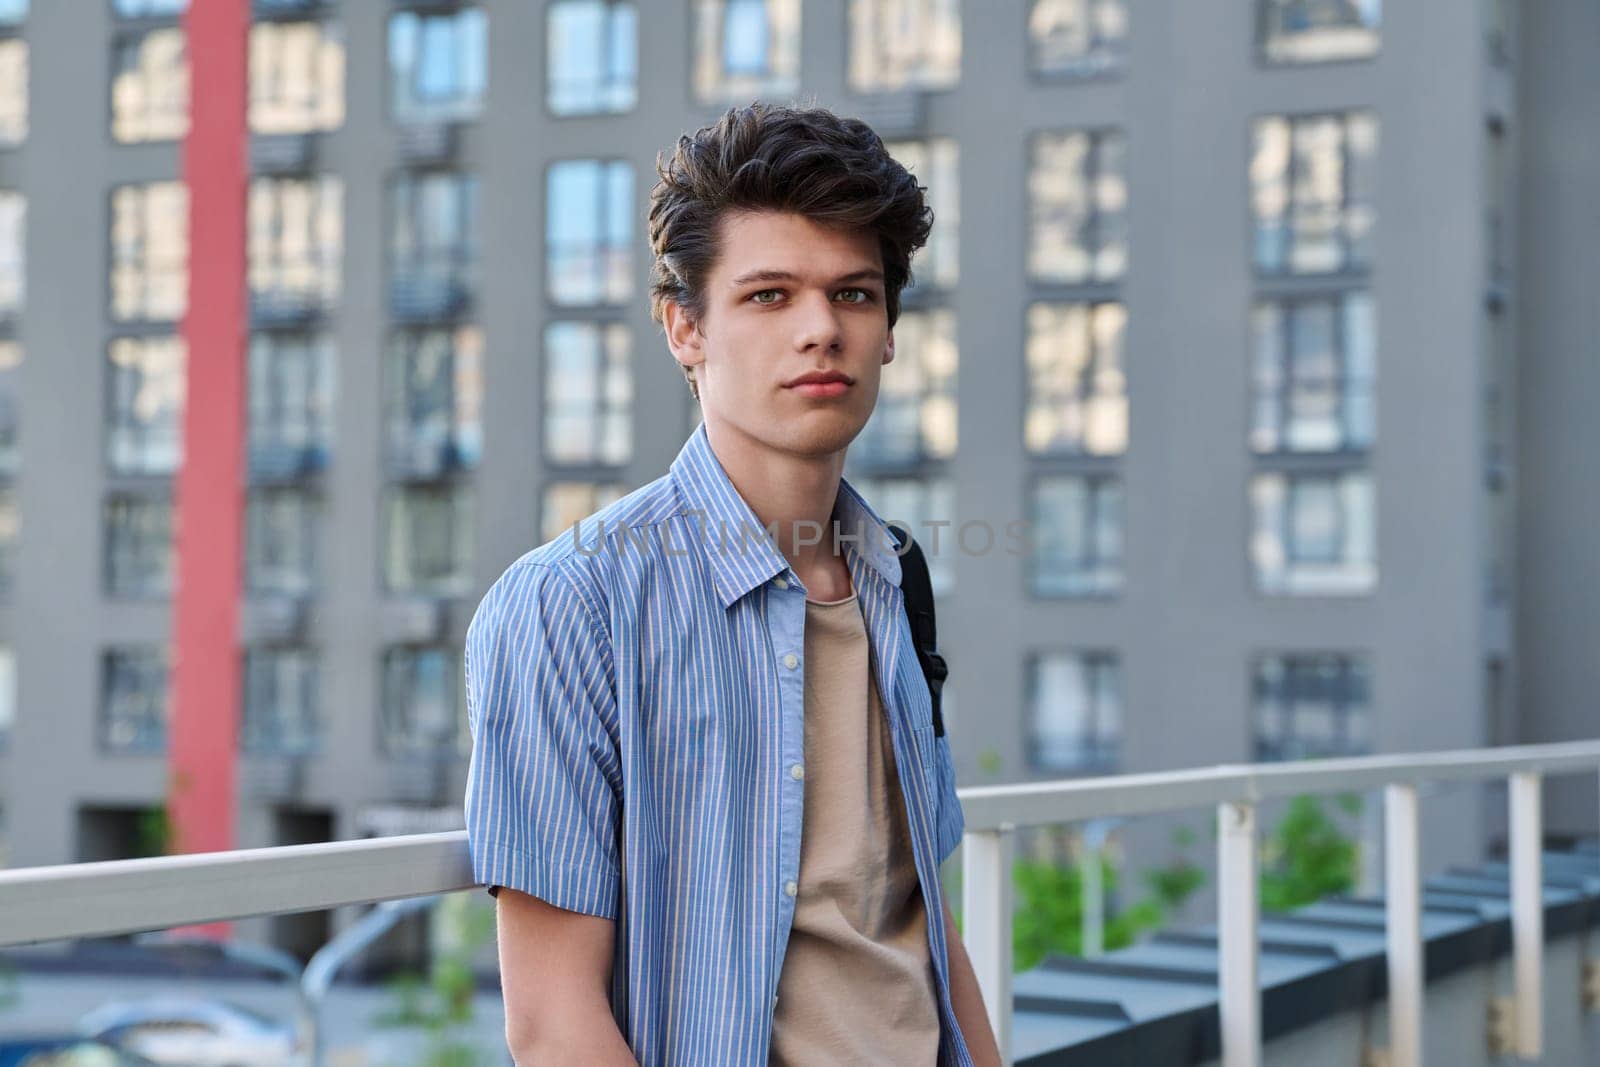
[[461, 597], [472, 581], [472, 488], [394, 485], [384, 493], [384, 590]]

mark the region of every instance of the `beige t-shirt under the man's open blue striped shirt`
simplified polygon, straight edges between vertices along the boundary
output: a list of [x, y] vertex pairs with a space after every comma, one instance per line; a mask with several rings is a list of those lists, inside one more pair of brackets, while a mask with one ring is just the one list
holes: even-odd
[[854, 593], [805, 606], [803, 781], [771, 1062], [926, 1067], [939, 1056], [928, 912]]

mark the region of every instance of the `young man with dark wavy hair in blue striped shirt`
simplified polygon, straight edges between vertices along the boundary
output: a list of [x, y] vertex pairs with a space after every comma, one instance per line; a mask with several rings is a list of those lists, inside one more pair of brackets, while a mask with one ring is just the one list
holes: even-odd
[[864, 123], [754, 104], [651, 192], [702, 426], [467, 632], [474, 870], [518, 1064], [998, 1064], [963, 821], [883, 522], [843, 482], [931, 211]]

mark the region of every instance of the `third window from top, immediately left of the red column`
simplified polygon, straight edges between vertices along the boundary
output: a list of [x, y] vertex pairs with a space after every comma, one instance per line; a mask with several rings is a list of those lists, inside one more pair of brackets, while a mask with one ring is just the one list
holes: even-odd
[[112, 474], [170, 475], [182, 459], [182, 338], [117, 338], [107, 350], [106, 458]]

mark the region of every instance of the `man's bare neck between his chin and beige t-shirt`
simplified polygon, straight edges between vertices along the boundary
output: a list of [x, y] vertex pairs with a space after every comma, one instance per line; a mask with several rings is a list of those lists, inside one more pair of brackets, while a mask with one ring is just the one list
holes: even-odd
[[834, 502], [845, 470], [845, 451], [829, 456], [786, 454], [712, 422], [706, 422], [706, 440], [757, 520], [768, 530], [776, 528], [778, 550], [813, 598], [850, 595], [850, 571], [834, 541]]

